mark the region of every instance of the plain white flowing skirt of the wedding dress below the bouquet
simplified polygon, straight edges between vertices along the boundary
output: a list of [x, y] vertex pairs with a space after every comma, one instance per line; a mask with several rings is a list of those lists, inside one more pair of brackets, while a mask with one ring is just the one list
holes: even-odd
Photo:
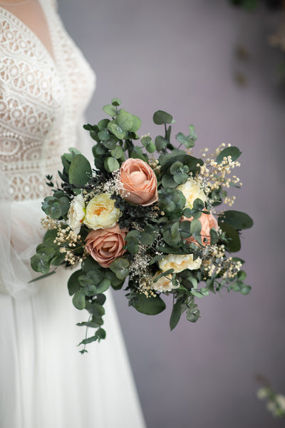
[[20, 297], [0, 293], [0, 427], [145, 427], [112, 296], [106, 339], [81, 355], [76, 322], [88, 313], [73, 307], [69, 275], [60, 269]]

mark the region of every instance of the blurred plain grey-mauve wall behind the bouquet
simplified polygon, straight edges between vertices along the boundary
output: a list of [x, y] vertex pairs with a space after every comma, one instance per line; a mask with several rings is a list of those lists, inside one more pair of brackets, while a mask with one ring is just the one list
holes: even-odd
[[[232, 143], [243, 152], [234, 209], [255, 222], [240, 253], [252, 293], [205, 297], [199, 322], [182, 320], [171, 333], [170, 310], [147, 317], [115, 293], [147, 427], [283, 426], [257, 399], [254, 380], [261, 372], [285, 393], [285, 93], [278, 51], [265, 43], [278, 16], [225, 0], [59, 0], [59, 10], [97, 73], [90, 122], [118, 96], [142, 118], [142, 133], [160, 133], [151, 118], [161, 108], [176, 118], [175, 132], [195, 124], [197, 148]], [[238, 43], [248, 61], [234, 54]], [[238, 72], [247, 86], [237, 85]]]

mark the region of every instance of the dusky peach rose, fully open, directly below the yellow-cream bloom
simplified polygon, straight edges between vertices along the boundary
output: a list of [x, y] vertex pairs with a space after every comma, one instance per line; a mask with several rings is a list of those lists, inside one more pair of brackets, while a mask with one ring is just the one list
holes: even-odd
[[113, 228], [92, 230], [86, 237], [86, 250], [100, 266], [108, 267], [116, 258], [125, 253], [125, 235], [128, 230]]

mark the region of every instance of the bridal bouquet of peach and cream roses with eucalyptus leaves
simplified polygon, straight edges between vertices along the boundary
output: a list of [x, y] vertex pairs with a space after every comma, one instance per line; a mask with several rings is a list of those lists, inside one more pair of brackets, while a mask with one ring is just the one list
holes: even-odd
[[244, 261], [230, 253], [241, 248], [241, 230], [252, 227], [252, 219], [236, 210], [217, 211], [222, 202], [232, 205], [227, 190], [240, 185], [232, 175], [239, 148], [222, 145], [212, 155], [204, 149], [196, 158], [194, 126], [187, 135], [177, 133], [174, 145], [175, 121], [165, 111], [153, 116], [163, 131], [154, 140], [138, 136], [140, 119], [120, 108], [118, 98], [103, 111], [110, 118], [84, 126], [95, 142], [93, 166], [71, 148], [61, 157], [61, 185], [47, 176], [52, 195], [42, 209], [48, 230], [31, 258], [33, 270], [43, 276], [58, 265], [81, 264], [68, 291], [73, 305], [89, 312], [78, 325], [95, 328], [81, 342], [81, 352], [105, 338], [109, 287], [125, 285], [128, 304], [147, 315], [162, 312], [162, 296], [172, 295], [171, 330], [183, 312], [190, 322], [198, 320], [196, 297], [222, 288], [250, 291]]

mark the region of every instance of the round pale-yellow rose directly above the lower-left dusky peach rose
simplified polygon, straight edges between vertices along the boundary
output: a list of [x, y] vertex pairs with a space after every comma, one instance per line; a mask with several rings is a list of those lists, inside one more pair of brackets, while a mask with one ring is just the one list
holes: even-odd
[[115, 208], [115, 201], [108, 193], [94, 196], [87, 207], [84, 223], [90, 229], [112, 228], [118, 221], [121, 213]]

